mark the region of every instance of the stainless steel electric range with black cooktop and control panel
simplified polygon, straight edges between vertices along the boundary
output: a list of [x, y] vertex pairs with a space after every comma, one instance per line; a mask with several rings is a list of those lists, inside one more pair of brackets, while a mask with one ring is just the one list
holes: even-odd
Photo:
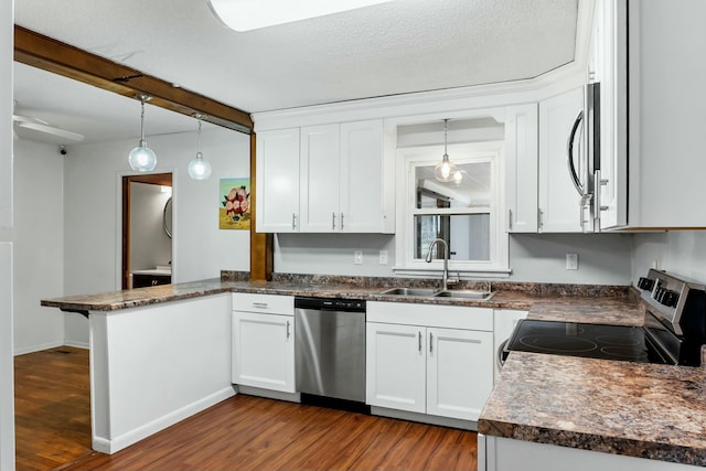
[[700, 365], [706, 344], [706, 290], [703, 283], [650, 269], [638, 288], [644, 325], [607, 325], [521, 320], [505, 343], [512, 351], [640, 363]]

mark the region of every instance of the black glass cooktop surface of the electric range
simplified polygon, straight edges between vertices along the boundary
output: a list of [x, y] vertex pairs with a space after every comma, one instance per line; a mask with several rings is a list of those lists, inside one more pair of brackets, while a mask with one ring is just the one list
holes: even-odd
[[511, 351], [665, 363], [652, 347], [641, 327], [582, 324], [573, 322], [521, 320], [505, 344]]

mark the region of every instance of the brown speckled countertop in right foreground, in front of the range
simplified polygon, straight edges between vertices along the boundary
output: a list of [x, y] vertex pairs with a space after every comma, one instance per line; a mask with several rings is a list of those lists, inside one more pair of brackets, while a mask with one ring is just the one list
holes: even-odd
[[479, 432], [706, 465], [706, 368], [512, 352]]

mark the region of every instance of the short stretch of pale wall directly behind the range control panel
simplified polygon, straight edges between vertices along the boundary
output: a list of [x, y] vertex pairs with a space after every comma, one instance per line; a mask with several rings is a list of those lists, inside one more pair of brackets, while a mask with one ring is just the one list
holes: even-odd
[[654, 267], [706, 282], [706, 231], [635, 234], [634, 238], [633, 282]]

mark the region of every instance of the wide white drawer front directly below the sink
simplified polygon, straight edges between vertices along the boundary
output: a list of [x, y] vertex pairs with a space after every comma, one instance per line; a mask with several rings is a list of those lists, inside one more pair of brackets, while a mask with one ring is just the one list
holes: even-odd
[[493, 331], [493, 310], [474, 306], [368, 301], [367, 322]]

